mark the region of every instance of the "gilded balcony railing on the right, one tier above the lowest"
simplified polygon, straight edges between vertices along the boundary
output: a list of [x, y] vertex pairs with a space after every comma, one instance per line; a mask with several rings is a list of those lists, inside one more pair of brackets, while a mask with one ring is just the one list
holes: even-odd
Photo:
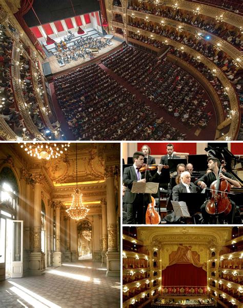
[[[160, 16], [156, 16], [153, 14], [147, 14], [144, 12], [137, 12], [134, 10], [127, 10], [127, 14], [129, 16], [134, 16], [137, 18], [142, 18], [143, 20], [146, 20], [146, 17], [149, 18], [149, 21], [151, 22], [155, 22], [161, 25], [161, 22], [163, 21], [163, 26], [167, 25], [167, 26], [171, 26], [173, 28], [178, 29], [179, 27], [181, 27], [180, 29], [186, 32], [189, 32], [193, 35], [197, 34], [197, 33], [201, 33], [202, 35], [200, 36], [200, 38], [202, 40], [205, 40], [206, 42], [215, 45], [216, 48], [220, 48], [222, 51], [224, 51], [225, 53], [227, 53], [229, 56], [232, 57], [233, 60], [235, 60], [238, 65], [243, 68], [243, 55], [242, 52], [240, 52], [240, 50], [238, 50], [237, 48], [235, 48], [233, 45], [231, 45], [230, 43], [228, 43], [225, 40], [222, 40], [220, 37], [207, 32], [205, 30], [202, 30], [200, 28], [196, 28], [194, 26], [185, 24], [185, 23], [181, 23], [181, 22], [177, 22], [174, 20], [171, 20], [169, 18], [166, 17], [160, 17]], [[210, 41], [206, 40], [206, 36], [210, 36]]]

